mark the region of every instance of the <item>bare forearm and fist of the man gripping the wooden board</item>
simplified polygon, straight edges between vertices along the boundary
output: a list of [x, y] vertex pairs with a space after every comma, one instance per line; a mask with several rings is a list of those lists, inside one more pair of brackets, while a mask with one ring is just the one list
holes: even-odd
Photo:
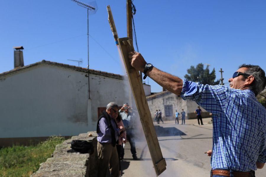
[[[131, 65], [138, 71], [143, 72], [145, 69], [146, 61], [142, 55], [138, 52], [131, 51], [129, 52], [129, 59]], [[153, 67], [147, 71], [147, 76], [152, 78], [160, 86], [167, 89], [168, 91], [180, 95], [183, 87], [183, 80], [173, 76], [169, 73], [160, 71], [159, 69]]]

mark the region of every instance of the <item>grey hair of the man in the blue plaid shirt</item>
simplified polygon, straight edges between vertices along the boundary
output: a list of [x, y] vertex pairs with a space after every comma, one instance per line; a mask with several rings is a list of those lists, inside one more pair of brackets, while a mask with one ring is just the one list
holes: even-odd
[[[248, 68], [245, 73], [254, 77], [254, 81], [249, 86], [249, 89], [254, 91], [255, 96], [257, 96], [261, 91], [264, 90], [266, 86], [265, 72], [258, 65], [246, 65], [242, 64], [239, 68]], [[243, 76], [245, 80], [248, 76]]]

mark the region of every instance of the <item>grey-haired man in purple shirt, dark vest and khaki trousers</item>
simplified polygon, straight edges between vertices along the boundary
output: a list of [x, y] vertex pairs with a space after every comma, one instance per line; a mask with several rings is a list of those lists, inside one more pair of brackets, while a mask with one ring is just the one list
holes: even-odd
[[119, 176], [119, 159], [116, 142], [123, 127], [117, 127], [114, 118], [118, 116], [115, 102], [107, 104], [106, 111], [100, 115], [97, 123], [97, 152], [99, 158], [98, 177], [105, 177], [109, 170], [111, 176]]

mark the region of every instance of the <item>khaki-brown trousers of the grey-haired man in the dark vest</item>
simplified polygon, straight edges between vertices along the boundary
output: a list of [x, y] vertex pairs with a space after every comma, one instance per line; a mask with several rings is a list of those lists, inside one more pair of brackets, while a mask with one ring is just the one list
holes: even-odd
[[106, 177], [109, 165], [111, 177], [119, 176], [119, 159], [116, 146], [111, 143], [97, 143], [97, 153], [99, 158], [98, 177]]

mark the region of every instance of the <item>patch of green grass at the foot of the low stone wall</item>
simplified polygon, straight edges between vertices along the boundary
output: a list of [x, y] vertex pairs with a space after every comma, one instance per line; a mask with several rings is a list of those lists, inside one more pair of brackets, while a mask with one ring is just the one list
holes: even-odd
[[51, 157], [55, 146], [63, 141], [64, 137], [52, 136], [36, 146], [2, 148], [0, 150], [0, 176], [30, 176], [39, 169], [40, 163]]

